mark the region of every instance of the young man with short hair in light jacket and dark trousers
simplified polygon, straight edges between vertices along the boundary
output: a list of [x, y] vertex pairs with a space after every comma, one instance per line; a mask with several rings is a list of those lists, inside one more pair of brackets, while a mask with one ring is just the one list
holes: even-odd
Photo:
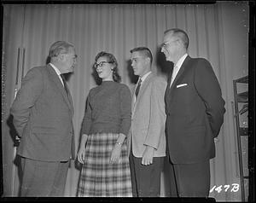
[[151, 64], [152, 54], [148, 48], [131, 49], [131, 67], [139, 76], [132, 97], [128, 140], [135, 197], [160, 196], [160, 174], [166, 156], [166, 81], [151, 72]]

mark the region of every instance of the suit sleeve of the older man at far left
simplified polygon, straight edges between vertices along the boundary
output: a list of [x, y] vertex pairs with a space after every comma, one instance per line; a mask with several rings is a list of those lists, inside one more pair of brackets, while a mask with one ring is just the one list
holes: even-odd
[[20, 90], [10, 108], [10, 113], [14, 116], [15, 129], [19, 136], [22, 136], [24, 127], [29, 119], [31, 107], [35, 105], [43, 90], [43, 74], [38, 68], [32, 68], [26, 74], [26, 77], [22, 79]]

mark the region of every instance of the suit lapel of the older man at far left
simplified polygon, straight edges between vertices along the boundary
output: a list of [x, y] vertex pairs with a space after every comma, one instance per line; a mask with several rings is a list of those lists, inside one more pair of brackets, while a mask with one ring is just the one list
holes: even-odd
[[[72, 110], [73, 112], [73, 103], [72, 103], [72, 99], [71, 99], [71, 95], [70, 95], [70, 92], [68, 90], [68, 94], [69, 96], [67, 96], [67, 92], [66, 90], [64, 89], [63, 85], [61, 84], [61, 80], [60, 78], [58, 77], [57, 73], [55, 73], [55, 70], [53, 69], [53, 67], [51, 67], [49, 64], [47, 65], [47, 70], [48, 70], [48, 73], [49, 73], [49, 78], [55, 83], [55, 87], [56, 89], [61, 92], [61, 95], [63, 96], [64, 98], [64, 101], [67, 102], [67, 106]], [[68, 98], [70, 97], [70, 99]]]

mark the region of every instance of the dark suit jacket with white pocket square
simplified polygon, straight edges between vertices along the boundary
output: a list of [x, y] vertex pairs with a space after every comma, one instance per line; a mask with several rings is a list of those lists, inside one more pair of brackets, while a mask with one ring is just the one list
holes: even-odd
[[211, 64], [189, 55], [166, 87], [166, 142], [173, 164], [215, 157], [214, 137], [224, 122], [224, 100]]

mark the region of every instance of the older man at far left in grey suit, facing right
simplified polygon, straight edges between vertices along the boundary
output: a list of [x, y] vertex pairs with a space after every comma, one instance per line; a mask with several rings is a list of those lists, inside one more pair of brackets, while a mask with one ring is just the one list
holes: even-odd
[[73, 102], [62, 73], [73, 72], [73, 44], [55, 42], [50, 63], [23, 78], [10, 113], [20, 136], [21, 196], [62, 196], [73, 146]]

